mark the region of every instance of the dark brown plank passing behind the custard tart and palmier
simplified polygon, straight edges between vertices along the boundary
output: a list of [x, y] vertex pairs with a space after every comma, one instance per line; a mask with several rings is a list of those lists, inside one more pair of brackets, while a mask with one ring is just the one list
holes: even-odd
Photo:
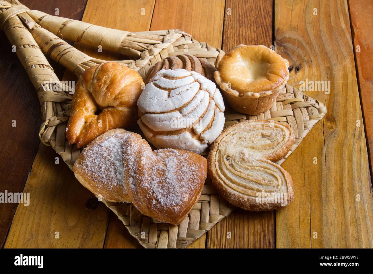
[[[225, 10], [224, 51], [238, 44], [272, 44], [272, 1], [227, 0]], [[233, 211], [209, 231], [207, 247], [274, 248], [274, 212]]]

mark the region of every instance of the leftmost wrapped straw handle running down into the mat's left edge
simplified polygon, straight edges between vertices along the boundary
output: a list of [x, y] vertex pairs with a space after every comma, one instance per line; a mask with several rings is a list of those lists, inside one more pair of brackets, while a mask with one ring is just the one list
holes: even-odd
[[72, 146], [65, 149], [64, 129], [69, 119], [72, 99], [69, 92], [73, 90], [58, 79], [20, 18], [28, 27], [33, 26], [32, 19], [24, 12], [24, 8], [19, 6], [18, 1], [0, 1], [1, 28], [10, 44], [15, 46], [16, 54], [34, 85], [41, 104], [43, 123], [40, 126], [39, 138], [43, 144], [51, 145], [72, 168], [80, 150]]

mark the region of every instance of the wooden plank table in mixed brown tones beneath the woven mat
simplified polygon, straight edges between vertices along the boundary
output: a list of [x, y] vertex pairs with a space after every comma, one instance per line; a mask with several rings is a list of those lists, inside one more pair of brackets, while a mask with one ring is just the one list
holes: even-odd
[[[330, 81], [308, 91], [328, 110], [283, 163], [294, 201], [269, 212], [235, 210], [191, 248], [373, 248], [373, 5], [371, 0], [21, 0], [30, 9], [126, 31], [179, 28], [225, 51], [262, 44], [290, 63], [288, 84]], [[144, 14], [145, 13], [145, 14]], [[30, 192], [30, 205], [0, 204], [5, 248], [139, 248], [117, 217], [40, 144], [40, 105], [0, 33], [0, 192]], [[118, 60], [116, 54], [94, 57]], [[50, 61], [60, 78], [70, 72]], [[16, 120], [16, 127], [12, 127]], [[315, 157], [317, 163], [315, 164]], [[59, 237], [56, 238], [56, 232]], [[226, 237], [231, 232], [232, 237]]]

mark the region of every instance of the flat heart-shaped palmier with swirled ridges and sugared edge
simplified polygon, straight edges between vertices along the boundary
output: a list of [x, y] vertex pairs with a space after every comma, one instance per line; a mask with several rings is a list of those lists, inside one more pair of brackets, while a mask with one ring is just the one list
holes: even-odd
[[278, 164], [294, 143], [291, 127], [248, 120], [227, 127], [211, 146], [208, 173], [219, 194], [244, 210], [274, 210], [293, 199], [292, 178]]

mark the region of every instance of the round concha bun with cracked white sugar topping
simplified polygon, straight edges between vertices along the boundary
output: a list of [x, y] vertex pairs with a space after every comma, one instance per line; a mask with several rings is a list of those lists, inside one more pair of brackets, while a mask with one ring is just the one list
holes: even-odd
[[202, 153], [222, 132], [224, 102], [214, 82], [185, 69], [160, 70], [137, 101], [138, 125], [156, 148]]

